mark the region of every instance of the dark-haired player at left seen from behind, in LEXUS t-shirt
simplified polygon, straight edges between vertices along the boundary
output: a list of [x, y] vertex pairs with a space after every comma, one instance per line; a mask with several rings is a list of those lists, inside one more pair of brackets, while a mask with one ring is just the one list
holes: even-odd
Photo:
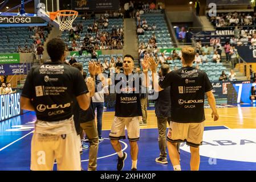
[[21, 107], [35, 111], [37, 121], [31, 141], [30, 169], [52, 170], [56, 159], [58, 170], [81, 170], [77, 134], [72, 117], [72, 98], [87, 110], [94, 81], [84, 84], [76, 68], [63, 64], [65, 43], [57, 38], [47, 43], [51, 61], [32, 68], [22, 90]]

